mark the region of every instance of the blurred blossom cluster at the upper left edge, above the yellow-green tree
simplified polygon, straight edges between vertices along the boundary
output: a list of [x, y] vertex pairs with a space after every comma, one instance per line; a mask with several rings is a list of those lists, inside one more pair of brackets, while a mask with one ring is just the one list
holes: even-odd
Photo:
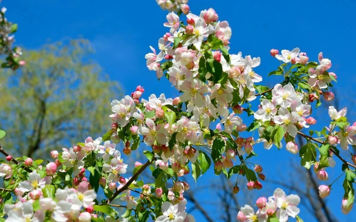
[[15, 70], [19, 66], [25, 65], [25, 61], [20, 61], [21, 48], [12, 48], [12, 43], [15, 42], [14, 33], [17, 30], [17, 24], [7, 21], [5, 18], [6, 10], [5, 7], [0, 10], [0, 55], [7, 56], [6, 62], [2, 63], [1, 67], [9, 67]]

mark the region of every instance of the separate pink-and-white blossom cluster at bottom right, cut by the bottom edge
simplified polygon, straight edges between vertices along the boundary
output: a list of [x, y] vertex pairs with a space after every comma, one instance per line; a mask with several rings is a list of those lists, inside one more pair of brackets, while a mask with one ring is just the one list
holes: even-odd
[[297, 217], [297, 221], [302, 221], [297, 216], [300, 212], [297, 207], [299, 203], [300, 198], [298, 195], [290, 194], [286, 196], [282, 189], [277, 188], [274, 190], [273, 196], [268, 198], [262, 196], [256, 200], [256, 206], [258, 207], [256, 212], [250, 205], [241, 207], [237, 214], [237, 220], [241, 222], [267, 222], [271, 218], [278, 218], [279, 222], [286, 222], [288, 217]]

